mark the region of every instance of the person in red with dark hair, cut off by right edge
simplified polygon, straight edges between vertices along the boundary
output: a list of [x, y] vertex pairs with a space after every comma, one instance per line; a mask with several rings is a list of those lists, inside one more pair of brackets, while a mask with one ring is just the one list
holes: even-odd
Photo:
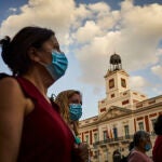
[[154, 133], [158, 135], [152, 150], [153, 161], [162, 161], [162, 114], [160, 114], [154, 123]]

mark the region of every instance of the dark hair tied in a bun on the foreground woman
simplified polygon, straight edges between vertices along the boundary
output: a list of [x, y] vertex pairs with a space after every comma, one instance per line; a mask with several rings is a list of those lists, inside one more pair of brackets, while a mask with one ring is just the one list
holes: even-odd
[[54, 36], [51, 29], [25, 27], [12, 40], [9, 36], [0, 40], [2, 58], [12, 70], [13, 76], [24, 75], [28, 71], [31, 66], [31, 60], [27, 54], [29, 48], [41, 48], [51, 36]]

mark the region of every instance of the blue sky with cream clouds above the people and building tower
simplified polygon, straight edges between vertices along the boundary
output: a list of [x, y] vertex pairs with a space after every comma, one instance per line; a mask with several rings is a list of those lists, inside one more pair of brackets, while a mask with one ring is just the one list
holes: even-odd
[[[0, 0], [0, 39], [25, 26], [53, 29], [69, 65], [48, 95], [81, 91], [86, 119], [106, 97], [104, 76], [114, 52], [132, 90], [149, 98], [162, 94], [161, 17], [161, 0]], [[1, 57], [0, 72], [10, 73]]]

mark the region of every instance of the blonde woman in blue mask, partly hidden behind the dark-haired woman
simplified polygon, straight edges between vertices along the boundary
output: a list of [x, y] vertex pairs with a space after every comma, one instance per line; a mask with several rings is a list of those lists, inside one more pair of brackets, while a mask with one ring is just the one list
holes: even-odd
[[87, 144], [81, 143], [79, 135], [79, 119], [82, 116], [82, 95], [79, 91], [67, 90], [60, 92], [54, 102], [59, 106], [59, 112], [65, 122], [69, 125], [75, 139], [76, 147], [80, 146], [80, 157], [73, 153], [73, 162], [87, 162], [89, 161], [89, 149]]

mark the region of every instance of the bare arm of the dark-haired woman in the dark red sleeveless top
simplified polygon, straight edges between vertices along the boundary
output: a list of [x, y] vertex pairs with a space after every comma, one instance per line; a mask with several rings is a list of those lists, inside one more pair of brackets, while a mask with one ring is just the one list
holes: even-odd
[[25, 114], [25, 99], [17, 81], [0, 80], [0, 162], [16, 162]]

